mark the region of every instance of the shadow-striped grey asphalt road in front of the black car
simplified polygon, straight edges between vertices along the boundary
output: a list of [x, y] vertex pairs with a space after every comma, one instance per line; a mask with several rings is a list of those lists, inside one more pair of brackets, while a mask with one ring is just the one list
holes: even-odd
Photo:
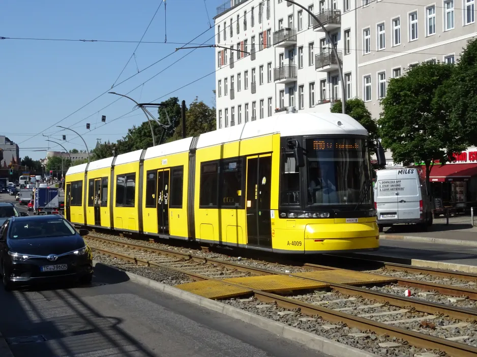
[[15, 357], [317, 357], [314, 350], [128, 281], [98, 264], [91, 286], [0, 289], [0, 332]]

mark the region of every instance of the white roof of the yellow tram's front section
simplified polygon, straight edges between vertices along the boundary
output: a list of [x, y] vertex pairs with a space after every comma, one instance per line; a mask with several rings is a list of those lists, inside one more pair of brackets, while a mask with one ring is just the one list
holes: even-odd
[[[339, 125], [339, 122], [341, 125]], [[214, 146], [233, 141], [256, 138], [270, 134], [281, 136], [299, 135], [368, 135], [359, 122], [347, 114], [336, 113], [290, 113], [249, 121], [201, 134], [197, 148]]]

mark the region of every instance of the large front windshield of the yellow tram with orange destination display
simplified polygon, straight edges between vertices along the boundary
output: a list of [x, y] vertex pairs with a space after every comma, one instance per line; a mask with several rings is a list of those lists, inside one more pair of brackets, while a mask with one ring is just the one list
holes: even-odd
[[372, 204], [371, 189], [361, 197], [370, 180], [365, 144], [356, 138], [306, 139], [308, 206]]

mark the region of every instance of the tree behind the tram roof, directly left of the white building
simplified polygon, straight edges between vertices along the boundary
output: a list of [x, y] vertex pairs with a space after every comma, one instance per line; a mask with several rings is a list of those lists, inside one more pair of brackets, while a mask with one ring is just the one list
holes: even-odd
[[[186, 137], [199, 136], [216, 128], [215, 108], [207, 106], [196, 97], [186, 112]], [[182, 139], [182, 123], [168, 141]]]

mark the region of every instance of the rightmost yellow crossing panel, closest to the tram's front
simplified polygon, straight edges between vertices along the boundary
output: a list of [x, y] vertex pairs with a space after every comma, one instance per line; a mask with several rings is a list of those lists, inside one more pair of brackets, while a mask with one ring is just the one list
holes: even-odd
[[318, 279], [329, 283], [347, 285], [365, 285], [396, 281], [395, 278], [387, 278], [383, 275], [355, 272], [351, 270], [320, 270], [314, 272], [296, 273], [296, 276]]

